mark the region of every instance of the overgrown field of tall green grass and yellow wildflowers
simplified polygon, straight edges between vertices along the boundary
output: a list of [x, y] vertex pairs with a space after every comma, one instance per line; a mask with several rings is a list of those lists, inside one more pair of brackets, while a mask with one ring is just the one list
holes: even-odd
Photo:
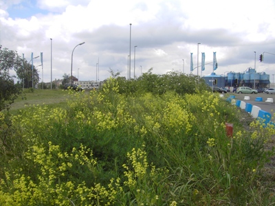
[[207, 89], [121, 89], [110, 78], [99, 91], [63, 91], [62, 106], [0, 113], [0, 205], [274, 203], [262, 184], [274, 127], [243, 130], [238, 109]]

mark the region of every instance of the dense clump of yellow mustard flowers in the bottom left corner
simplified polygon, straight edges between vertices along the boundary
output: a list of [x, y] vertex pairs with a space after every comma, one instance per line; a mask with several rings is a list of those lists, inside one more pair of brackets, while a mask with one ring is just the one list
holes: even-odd
[[[3, 205], [69, 205], [71, 203], [96, 205], [111, 205], [115, 198], [115, 190], [111, 185], [109, 189], [96, 184], [94, 187], [86, 187], [85, 182], [76, 184], [66, 181], [68, 172], [75, 168], [75, 164], [87, 166], [91, 174], [96, 176], [96, 160], [92, 158], [91, 150], [86, 146], [73, 148], [72, 153], [61, 152], [59, 146], [48, 144], [48, 148], [32, 146], [26, 153], [25, 158], [34, 161], [36, 170], [40, 170], [38, 181], [25, 177], [24, 174], [14, 174], [14, 181], [10, 180], [9, 172], [5, 173], [5, 181], [0, 184], [0, 199], [9, 196]], [[91, 176], [92, 177], [92, 176]]]

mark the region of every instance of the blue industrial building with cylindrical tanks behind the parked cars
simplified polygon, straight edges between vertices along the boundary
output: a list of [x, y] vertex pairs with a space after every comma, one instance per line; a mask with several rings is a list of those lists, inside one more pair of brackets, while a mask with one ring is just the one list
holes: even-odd
[[217, 75], [211, 73], [209, 76], [202, 77], [210, 87], [250, 87], [253, 89], [270, 87], [270, 75], [262, 72], [256, 73], [255, 69], [249, 67], [243, 73], [230, 71], [227, 75]]

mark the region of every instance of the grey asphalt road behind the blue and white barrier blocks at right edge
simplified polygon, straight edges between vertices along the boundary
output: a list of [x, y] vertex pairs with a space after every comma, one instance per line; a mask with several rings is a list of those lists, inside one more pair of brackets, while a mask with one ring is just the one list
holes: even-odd
[[[248, 102], [252, 105], [259, 106], [261, 110], [270, 113], [272, 116], [275, 114], [275, 94], [266, 94], [266, 93], [257, 93], [257, 94], [244, 94], [244, 93], [232, 93], [229, 92], [229, 95], [234, 95], [236, 100], [241, 100], [243, 102]], [[250, 97], [250, 100], [244, 100], [245, 96]], [[263, 98], [263, 102], [256, 102], [256, 98]], [[273, 98], [273, 103], [265, 102], [267, 98]]]

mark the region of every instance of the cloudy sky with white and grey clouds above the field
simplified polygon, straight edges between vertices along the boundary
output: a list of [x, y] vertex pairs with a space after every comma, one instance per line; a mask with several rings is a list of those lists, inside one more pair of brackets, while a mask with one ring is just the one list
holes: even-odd
[[[152, 67], [157, 74], [190, 73], [190, 53], [197, 67], [201, 43], [199, 65], [201, 52], [206, 63], [217, 52], [217, 74], [244, 72], [256, 62], [256, 71], [270, 74], [272, 82], [275, 1], [0, 1], [0, 45], [24, 54], [28, 61], [32, 52], [34, 57], [43, 52], [44, 82], [51, 80], [51, 49], [54, 80], [71, 73], [74, 47], [73, 75], [80, 80], [96, 80], [98, 62], [99, 80], [108, 78], [110, 69], [127, 77], [130, 42], [131, 78]], [[41, 59], [34, 59], [34, 65], [41, 65]], [[42, 78], [42, 67], [37, 69]], [[202, 76], [211, 72], [210, 63]], [[201, 75], [201, 69], [192, 73]]]

